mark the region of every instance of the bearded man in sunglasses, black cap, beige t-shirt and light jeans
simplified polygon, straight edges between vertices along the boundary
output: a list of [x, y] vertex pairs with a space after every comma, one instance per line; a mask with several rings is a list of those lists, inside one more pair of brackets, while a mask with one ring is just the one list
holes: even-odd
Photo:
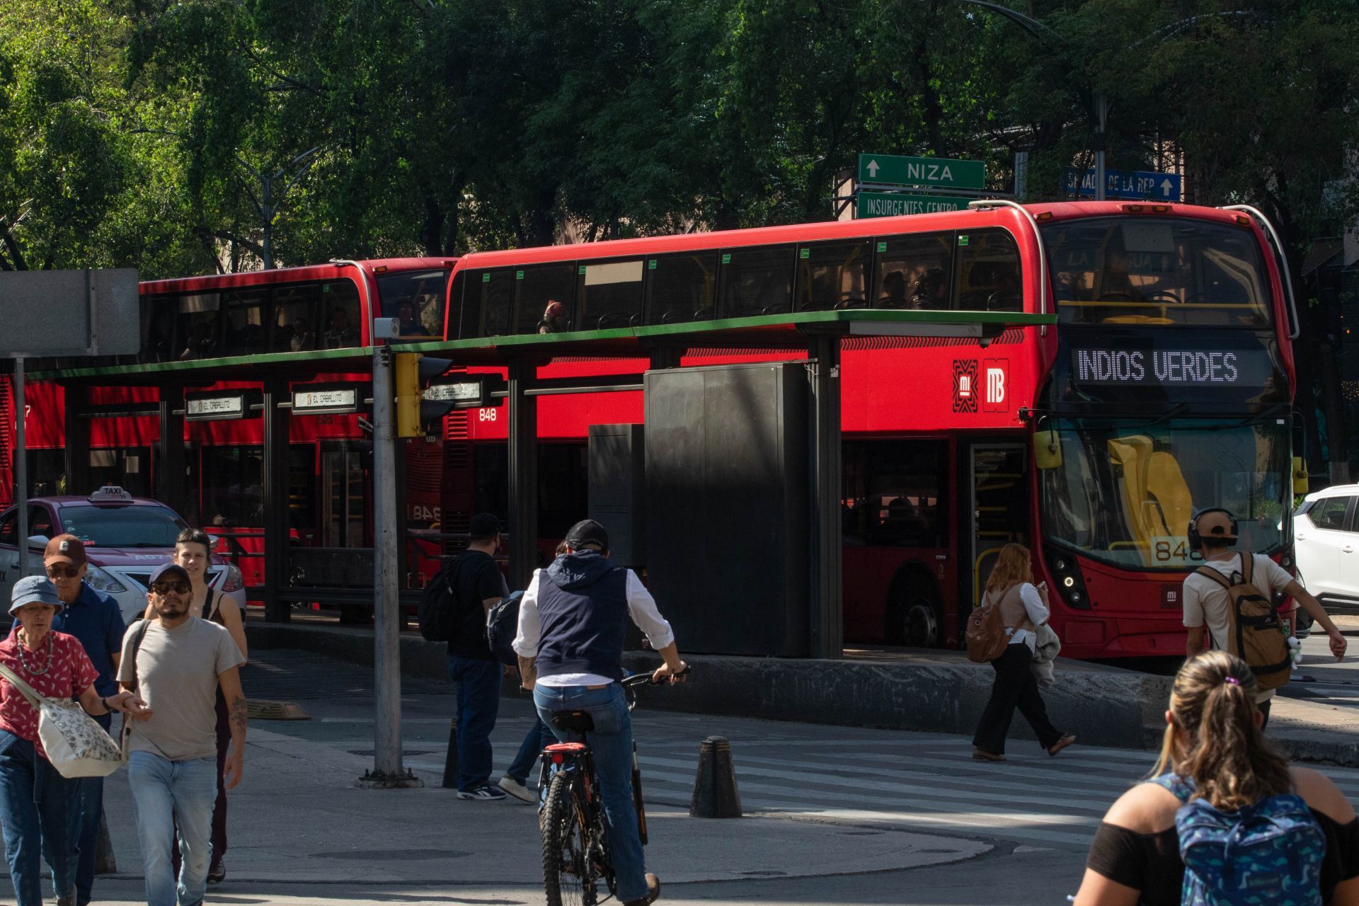
[[[133, 721], [128, 746], [148, 906], [198, 903], [208, 890], [219, 683], [231, 723], [231, 751], [222, 772], [226, 788], [239, 784], [245, 770], [239, 670], [245, 659], [224, 628], [189, 615], [192, 595], [183, 566], [156, 569], [147, 592], [155, 617], [128, 632], [118, 666], [118, 682], [136, 690], [149, 709]], [[177, 827], [183, 853], [178, 884], [170, 861]]]

